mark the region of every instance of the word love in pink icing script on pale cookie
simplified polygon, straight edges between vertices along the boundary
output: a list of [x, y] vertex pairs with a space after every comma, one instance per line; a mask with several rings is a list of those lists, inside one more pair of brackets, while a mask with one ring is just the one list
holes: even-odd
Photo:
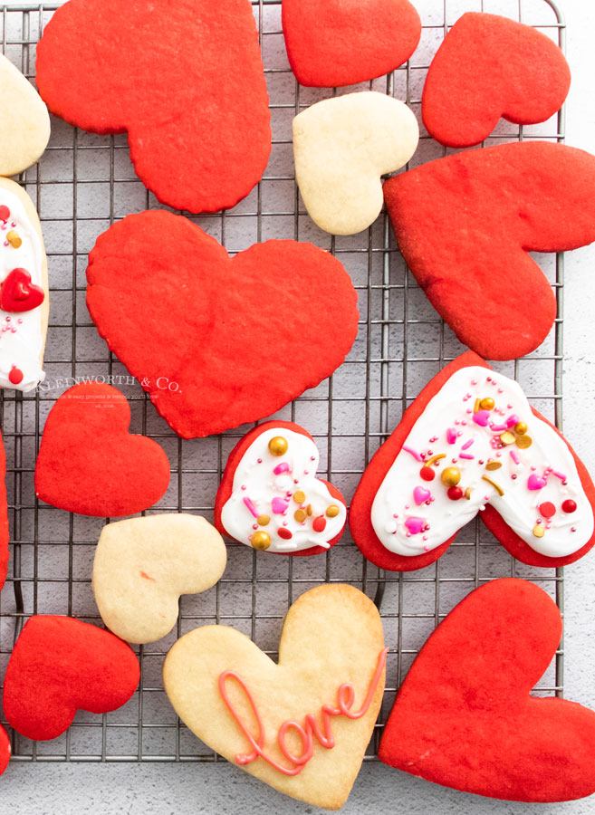
[[[371, 678], [368, 692], [360, 707], [360, 710], [351, 710], [351, 707], [355, 701], [355, 691], [352, 685], [345, 683], [341, 685], [337, 691], [336, 707], [331, 707], [331, 705], [322, 705], [321, 724], [319, 724], [313, 714], [307, 714], [305, 716], [303, 725], [298, 724], [298, 722], [293, 722], [292, 720], [283, 722], [279, 728], [279, 732], [277, 733], [277, 743], [279, 744], [281, 753], [283, 753], [283, 756], [290, 764], [288, 767], [283, 766], [283, 764], [277, 762], [274, 758], [272, 758], [272, 756], [265, 753], [264, 746], [266, 743], [266, 733], [264, 731], [263, 720], [258, 711], [258, 707], [256, 706], [254, 696], [250, 693], [244, 679], [242, 679], [242, 677], [236, 674], [234, 671], [224, 671], [219, 676], [219, 693], [223, 697], [229, 712], [234, 716], [240, 730], [242, 733], [244, 733], [246, 739], [253, 748], [252, 753], [238, 753], [235, 756], [235, 761], [244, 766], [245, 764], [254, 762], [260, 757], [264, 759], [265, 762], [270, 764], [274, 770], [283, 772], [284, 775], [298, 775], [300, 772], [302, 772], [305, 765], [312, 759], [312, 755], [314, 754], [314, 738], [316, 738], [321, 747], [324, 747], [326, 750], [331, 750], [335, 746], [335, 739], [332, 733], [331, 724], [331, 718], [333, 716], [345, 716], [348, 719], [360, 719], [362, 716], [368, 713], [369, 705], [371, 704], [374, 694], [376, 693], [380, 676], [382, 676], [382, 671], [386, 665], [388, 651], [389, 648], [384, 648], [384, 650], [380, 651], [374, 676]], [[247, 725], [227, 694], [226, 682], [228, 680], [235, 681], [242, 688], [248, 704], [252, 708], [254, 719], [258, 725], [258, 733], [255, 738], [254, 735], [248, 730]], [[300, 753], [300, 755], [295, 755], [292, 753], [287, 746], [285, 740], [287, 733], [290, 731], [296, 733], [300, 739], [300, 742], [302, 743], [302, 753]]]

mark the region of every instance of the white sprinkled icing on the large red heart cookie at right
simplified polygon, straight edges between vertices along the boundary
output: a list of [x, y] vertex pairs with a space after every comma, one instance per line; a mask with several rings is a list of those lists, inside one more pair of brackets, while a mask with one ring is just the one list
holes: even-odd
[[[476, 404], [485, 398], [494, 408]], [[523, 434], [519, 423], [526, 425]], [[426, 467], [424, 475], [429, 469], [434, 478], [425, 480], [422, 468], [436, 455], [446, 457]], [[458, 489], [463, 496], [456, 500], [443, 483], [446, 467], [460, 473], [451, 494]], [[469, 367], [456, 371], [427, 403], [380, 485], [371, 522], [383, 546], [413, 557], [436, 549], [486, 503], [547, 557], [578, 551], [593, 533], [593, 511], [568, 446], [533, 415], [516, 382]]]

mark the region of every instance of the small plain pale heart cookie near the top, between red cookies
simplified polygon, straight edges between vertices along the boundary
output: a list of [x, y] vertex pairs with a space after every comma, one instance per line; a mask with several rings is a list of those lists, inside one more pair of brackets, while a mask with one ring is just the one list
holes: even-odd
[[355, 235], [382, 209], [380, 177], [417, 149], [415, 114], [398, 99], [362, 91], [325, 99], [293, 120], [295, 175], [312, 221], [333, 235]]

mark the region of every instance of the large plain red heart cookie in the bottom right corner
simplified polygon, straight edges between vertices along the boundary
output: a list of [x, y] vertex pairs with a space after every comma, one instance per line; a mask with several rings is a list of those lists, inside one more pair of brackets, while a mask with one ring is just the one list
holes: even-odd
[[595, 791], [595, 713], [531, 690], [561, 638], [552, 599], [526, 580], [471, 592], [427, 640], [401, 686], [381, 761], [506, 801]]

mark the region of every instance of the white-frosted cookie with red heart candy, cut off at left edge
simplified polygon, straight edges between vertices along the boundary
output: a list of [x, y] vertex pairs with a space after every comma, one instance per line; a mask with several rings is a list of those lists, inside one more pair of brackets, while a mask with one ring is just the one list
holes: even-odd
[[42, 228], [22, 187], [0, 178], [0, 388], [43, 381], [50, 312]]

